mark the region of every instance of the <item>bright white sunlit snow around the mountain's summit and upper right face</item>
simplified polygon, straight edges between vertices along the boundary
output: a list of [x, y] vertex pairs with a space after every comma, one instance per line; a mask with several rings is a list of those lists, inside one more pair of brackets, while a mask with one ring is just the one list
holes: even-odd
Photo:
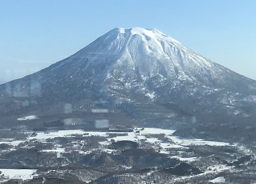
[[[133, 78], [135, 71], [138, 71], [143, 79], [162, 75], [165, 78], [191, 81], [193, 79], [184, 71], [188, 71], [187, 73], [211, 71], [214, 65], [210, 60], [156, 29], [116, 28], [102, 36], [103, 38], [107, 46], [103, 52], [102, 48], [94, 51], [94, 58], [95, 54], [102, 56], [102, 54], [113, 53], [117, 62], [112, 66], [113, 68], [108, 68], [108, 71], [113, 71], [115, 76], [118, 72], [116, 68], [119, 71], [121, 69], [123, 73], [118, 79], [123, 83], [129, 82], [127, 78], [129, 76], [126, 74]], [[87, 47], [77, 54], [85, 56], [88, 54], [86, 50]]]

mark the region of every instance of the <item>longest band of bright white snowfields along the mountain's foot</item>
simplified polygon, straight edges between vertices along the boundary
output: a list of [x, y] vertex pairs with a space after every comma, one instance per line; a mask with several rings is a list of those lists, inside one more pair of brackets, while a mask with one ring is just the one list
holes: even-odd
[[[108, 142], [100, 142], [102, 145], [108, 145], [111, 140], [115, 140], [115, 142], [121, 140], [130, 140], [134, 142], [138, 142], [144, 140], [145, 142], [149, 142], [152, 144], [158, 144], [163, 149], [168, 148], [187, 148], [191, 144], [195, 145], [210, 145], [210, 146], [230, 146], [230, 144], [226, 142], [214, 142], [214, 141], [205, 141], [203, 139], [185, 139], [177, 136], [172, 136], [175, 130], [166, 130], [161, 128], [135, 128], [134, 131], [139, 130], [139, 133], [135, 132], [127, 132], [126, 135], [116, 136], [114, 138], [108, 138], [108, 134], [120, 134], [120, 132], [86, 132], [84, 130], [59, 130], [57, 132], [38, 132], [36, 136], [32, 136], [28, 138], [28, 140], [46, 140], [48, 138], [57, 138], [57, 137], [71, 137], [76, 134], [83, 136], [101, 136], [105, 137]], [[169, 138], [170, 142], [162, 142], [158, 138], [146, 138], [147, 135], [154, 134], [164, 134], [166, 138]], [[22, 141], [21, 141], [22, 142]], [[13, 142], [13, 144], [20, 144], [20, 142]], [[52, 150], [58, 151], [58, 150]]]

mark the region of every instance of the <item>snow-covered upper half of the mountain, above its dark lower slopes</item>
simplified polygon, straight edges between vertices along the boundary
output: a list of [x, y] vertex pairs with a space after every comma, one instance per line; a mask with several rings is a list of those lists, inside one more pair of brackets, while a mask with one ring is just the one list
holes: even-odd
[[[168, 86], [166, 91], [190, 84], [195, 90], [188, 91], [187, 95], [194, 95], [206, 93], [198, 88], [202, 85], [208, 89], [207, 93], [217, 93], [219, 88], [226, 87], [229, 79], [238, 77], [228, 68], [204, 58], [159, 30], [144, 28], [110, 30], [82, 50], [39, 73], [42, 76], [40, 83], [55, 84], [56, 77], [61, 77], [63, 81], [81, 85], [85, 91], [90, 85], [91, 89], [99, 91], [99, 96], [118, 95], [119, 102], [121, 97], [133, 101], [127, 92], [142, 94], [152, 101], [160, 98], [162, 92], [148, 84], [156, 89]], [[239, 81], [243, 82], [242, 79]], [[68, 83], [63, 87], [69, 88]], [[98, 103], [108, 103], [105, 100]]]

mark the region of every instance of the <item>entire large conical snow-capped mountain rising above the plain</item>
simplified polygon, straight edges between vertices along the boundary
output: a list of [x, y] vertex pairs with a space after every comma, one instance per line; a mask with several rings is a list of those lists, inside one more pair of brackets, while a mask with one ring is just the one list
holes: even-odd
[[[0, 86], [3, 97], [106, 102], [141, 118], [249, 117], [256, 81], [158, 30], [115, 28], [38, 73]], [[249, 110], [248, 110], [249, 109]], [[155, 117], [154, 116], [154, 117]]]

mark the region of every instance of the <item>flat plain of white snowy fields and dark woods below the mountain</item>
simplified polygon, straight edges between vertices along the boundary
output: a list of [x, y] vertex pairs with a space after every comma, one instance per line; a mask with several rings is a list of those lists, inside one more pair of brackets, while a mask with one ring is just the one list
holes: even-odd
[[232, 181], [232, 172], [243, 171], [255, 158], [242, 145], [181, 138], [174, 132], [142, 127], [24, 131], [21, 140], [1, 138], [0, 181], [115, 183], [115, 175], [117, 183], [152, 177], [158, 183], [214, 183], [218, 177]]

